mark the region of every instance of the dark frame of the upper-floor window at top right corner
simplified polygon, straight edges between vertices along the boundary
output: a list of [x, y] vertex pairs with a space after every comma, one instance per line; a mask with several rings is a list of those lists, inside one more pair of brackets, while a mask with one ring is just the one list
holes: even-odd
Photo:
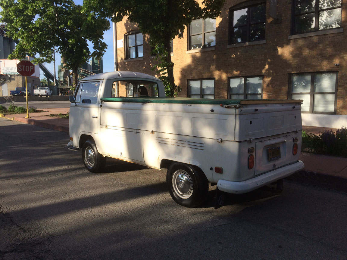
[[[323, 31], [327, 31], [327, 30], [342, 28], [342, 0], [341, 0], [340, 6], [331, 7], [331, 8], [324, 8], [324, 9], [319, 9], [319, 0], [315, 0], [315, 2], [316, 2], [315, 3], [315, 9], [313, 11], [301, 12], [299, 14], [295, 14], [295, 2], [296, 2], [296, 0], [292, 1], [292, 8], [291, 8], [291, 14], [292, 14], [291, 15], [291, 35], [313, 33], [313, 32], [323, 32]], [[328, 11], [328, 10], [333, 10], [333, 9], [338, 9], [338, 8], [341, 8], [341, 26], [320, 30], [319, 29], [319, 13], [322, 11]], [[295, 18], [298, 16], [307, 15], [307, 14], [315, 14], [314, 15], [314, 30], [296, 33], [295, 32]]]

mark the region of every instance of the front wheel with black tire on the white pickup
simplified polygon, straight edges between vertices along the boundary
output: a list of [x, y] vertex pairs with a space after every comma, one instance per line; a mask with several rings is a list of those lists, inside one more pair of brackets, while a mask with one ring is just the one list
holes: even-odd
[[88, 171], [99, 173], [106, 165], [106, 157], [102, 157], [96, 149], [92, 139], [88, 139], [82, 146], [82, 159]]

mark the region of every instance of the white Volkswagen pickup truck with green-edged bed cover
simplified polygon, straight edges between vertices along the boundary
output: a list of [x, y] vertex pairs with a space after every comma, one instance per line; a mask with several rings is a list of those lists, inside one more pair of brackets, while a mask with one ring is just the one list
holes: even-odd
[[209, 183], [246, 193], [304, 167], [302, 100], [167, 98], [161, 80], [119, 71], [84, 78], [70, 102], [68, 148], [89, 171], [107, 157], [166, 168], [186, 207], [204, 202]]

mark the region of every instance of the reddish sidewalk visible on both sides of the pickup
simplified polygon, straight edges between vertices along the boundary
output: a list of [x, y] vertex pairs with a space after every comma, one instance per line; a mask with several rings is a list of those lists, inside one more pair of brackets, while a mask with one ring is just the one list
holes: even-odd
[[[6, 115], [6, 118], [23, 123], [34, 124], [40, 127], [54, 129], [69, 133], [69, 120], [51, 117], [50, 114], [67, 114], [69, 108], [43, 109], [45, 112], [29, 114], [31, 118], [25, 118], [26, 114]], [[5, 117], [0, 114], [0, 117]], [[303, 126], [308, 133], [319, 135], [324, 130], [337, 129]], [[68, 141], [68, 138], [67, 138]], [[347, 158], [327, 155], [301, 153], [300, 160], [304, 162], [303, 171], [288, 177], [290, 180], [319, 185], [347, 192]]]

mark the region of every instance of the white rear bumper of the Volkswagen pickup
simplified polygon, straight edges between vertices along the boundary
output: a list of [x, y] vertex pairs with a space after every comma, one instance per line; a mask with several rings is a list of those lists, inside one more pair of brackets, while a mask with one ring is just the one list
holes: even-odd
[[294, 164], [287, 165], [285, 167], [259, 175], [246, 181], [219, 180], [217, 187], [219, 190], [227, 193], [246, 193], [270, 184], [271, 182], [290, 176], [291, 174], [300, 171], [303, 168], [304, 163], [302, 161], [297, 161]]

